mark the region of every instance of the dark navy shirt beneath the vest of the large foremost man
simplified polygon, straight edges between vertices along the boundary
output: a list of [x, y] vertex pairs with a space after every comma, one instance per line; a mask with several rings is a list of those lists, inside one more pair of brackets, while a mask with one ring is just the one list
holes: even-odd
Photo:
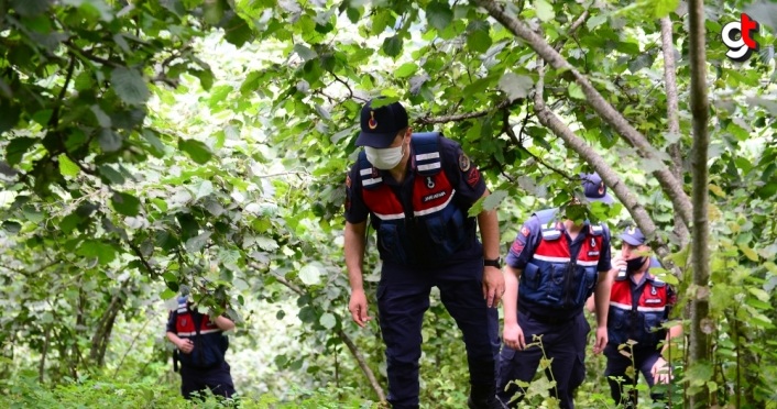
[[[464, 215], [467, 215], [469, 208], [485, 192], [485, 181], [478, 170], [478, 167], [472, 164], [470, 158], [463, 153], [459, 143], [447, 137], [440, 137], [438, 147], [440, 151], [442, 172], [446, 173], [451, 187], [456, 189], [453, 197], [455, 203], [463, 211]], [[394, 180], [388, 170], [379, 170], [383, 183], [391, 187], [405, 210], [413, 208], [413, 184], [417, 176], [412, 164], [414, 158], [413, 144], [411, 143], [411, 158], [407, 161], [407, 175], [402, 184]], [[366, 221], [369, 214], [370, 209], [362, 200], [362, 184], [359, 175], [359, 164], [357, 163], [351, 167], [348, 178], [346, 179], [346, 220], [350, 223], [358, 224]], [[472, 234], [470, 243], [464, 244], [460, 252], [452, 255], [450, 262], [482, 257], [482, 246], [475, 235]]]

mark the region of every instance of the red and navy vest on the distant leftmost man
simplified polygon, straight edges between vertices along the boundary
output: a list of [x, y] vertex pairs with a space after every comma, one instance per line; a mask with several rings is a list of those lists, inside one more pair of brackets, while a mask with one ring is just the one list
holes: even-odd
[[[185, 354], [178, 351], [175, 358], [184, 366], [195, 368], [220, 365], [229, 349], [229, 338], [222, 334], [221, 329], [211, 322], [208, 316], [191, 311], [185, 297], [178, 298], [178, 307], [174, 313], [176, 334], [194, 343], [191, 353]], [[199, 331], [197, 331], [198, 327]]]

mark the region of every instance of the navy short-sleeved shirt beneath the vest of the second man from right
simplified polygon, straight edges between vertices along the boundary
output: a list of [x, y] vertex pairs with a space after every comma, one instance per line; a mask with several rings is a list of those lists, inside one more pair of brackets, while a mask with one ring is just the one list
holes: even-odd
[[[545, 211], [543, 211], [543, 213], [545, 213]], [[582, 246], [583, 240], [588, 236], [588, 229], [590, 226], [589, 222], [586, 222], [586, 225], [583, 225], [582, 230], [580, 230], [578, 236], [574, 237], [574, 241], [572, 241], [569, 237], [567, 228], [562, 222], [556, 220], [551, 221], [556, 223], [556, 228], [560, 229], [562, 234], [567, 235], [567, 242], [571, 243], [569, 248], [570, 253], [573, 255], [578, 254], [580, 252], [580, 247]], [[545, 220], [540, 220], [540, 217], [535, 214], [524, 223], [521, 228], [521, 232], [516, 235], [515, 241], [507, 253], [505, 263], [508, 266], [521, 270], [526, 268], [526, 264], [528, 264], [534, 256], [534, 253], [543, 239], [543, 226], [547, 225], [547, 223], [544, 222]], [[597, 270], [602, 273], [609, 272], [610, 269], [612, 269], [612, 265], [610, 264], [610, 230], [605, 228], [602, 232], [602, 245]]]

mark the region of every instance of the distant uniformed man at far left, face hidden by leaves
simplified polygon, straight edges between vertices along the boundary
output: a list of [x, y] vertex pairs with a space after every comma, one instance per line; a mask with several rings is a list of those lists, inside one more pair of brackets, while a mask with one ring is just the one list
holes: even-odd
[[180, 394], [186, 399], [210, 389], [214, 395], [231, 398], [234, 385], [225, 354], [229, 339], [223, 331], [234, 328], [227, 317], [215, 319], [197, 311], [188, 300], [188, 291], [182, 291], [178, 306], [167, 320], [167, 339], [175, 344], [174, 366], [180, 363]]

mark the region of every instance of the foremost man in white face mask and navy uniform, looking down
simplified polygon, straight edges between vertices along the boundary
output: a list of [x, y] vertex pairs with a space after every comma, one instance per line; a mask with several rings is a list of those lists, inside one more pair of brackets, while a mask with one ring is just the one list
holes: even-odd
[[[405, 108], [393, 102], [361, 111], [357, 146], [364, 146], [346, 181], [344, 253], [349, 310], [364, 327], [362, 284], [366, 219], [382, 259], [377, 312], [386, 344], [388, 401], [418, 407], [422, 322], [433, 286], [463, 333], [470, 408], [499, 408], [495, 399], [499, 317], [504, 292], [495, 211], [468, 217], [488, 196], [485, 183], [458, 143], [439, 133], [414, 134]], [[480, 226], [482, 245], [477, 239]]]

